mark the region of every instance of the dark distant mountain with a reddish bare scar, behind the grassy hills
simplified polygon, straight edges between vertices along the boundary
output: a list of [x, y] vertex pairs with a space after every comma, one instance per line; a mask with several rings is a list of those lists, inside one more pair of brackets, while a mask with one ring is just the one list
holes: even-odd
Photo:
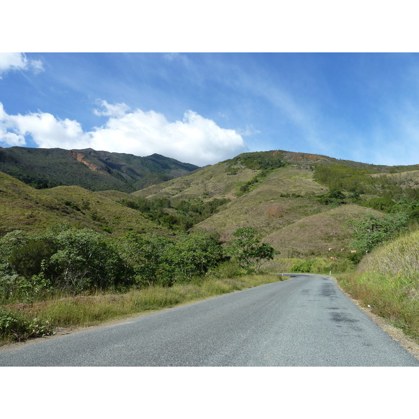
[[129, 193], [198, 168], [159, 154], [140, 157], [94, 149], [0, 147], [0, 170], [36, 189], [77, 185], [90, 191]]

